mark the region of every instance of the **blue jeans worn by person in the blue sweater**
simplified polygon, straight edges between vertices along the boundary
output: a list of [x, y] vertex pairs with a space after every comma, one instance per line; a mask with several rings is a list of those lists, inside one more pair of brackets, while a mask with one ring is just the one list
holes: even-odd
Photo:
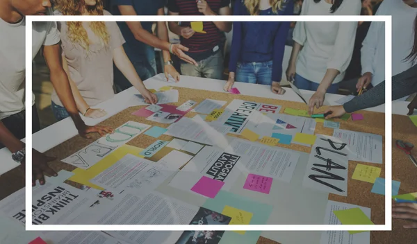
[[240, 62], [236, 70], [236, 81], [271, 85], [272, 60], [268, 62]]

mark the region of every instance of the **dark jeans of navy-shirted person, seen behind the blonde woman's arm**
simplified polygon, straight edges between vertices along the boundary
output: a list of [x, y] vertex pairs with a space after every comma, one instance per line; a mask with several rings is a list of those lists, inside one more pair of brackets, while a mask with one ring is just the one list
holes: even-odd
[[[135, 67], [136, 69], [136, 73], [138, 73], [138, 76], [142, 81], [156, 76], [155, 51], [152, 46], [147, 46], [142, 60], [135, 60], [131, 62], [133, 64], [133, 67]], [[117, 69], [117, 67], [114, 64], [113, 70], [117, 93], [122, 92], [125, 89], [128, 89], [132, 86], [131, 82], [129, 82], [129, 80], [127, 80], [126, 77], [124, 77], [123, 73], [119, 69]]]

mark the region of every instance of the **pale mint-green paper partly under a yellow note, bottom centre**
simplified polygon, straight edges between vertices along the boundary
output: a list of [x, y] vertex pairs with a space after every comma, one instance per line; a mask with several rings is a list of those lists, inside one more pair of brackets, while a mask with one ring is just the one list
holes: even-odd
[[[203, 207], [212, 211], [222, 213], [225, 206], [234, 207], [252, 213], [250, 225], [265, 225], [272, 213], [272, 206], [261, 202], [256, 202], [250, 198], [245, 198], [229, 191], [219, 191], [215, 198], [208, 198]], [[220, 244], [253, 244], [258, 241], [262, 232], [224, 232]]]

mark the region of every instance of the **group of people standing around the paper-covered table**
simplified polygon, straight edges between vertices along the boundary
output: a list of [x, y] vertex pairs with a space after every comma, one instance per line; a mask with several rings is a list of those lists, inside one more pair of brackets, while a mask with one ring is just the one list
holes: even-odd
[[[293, 15], [293, 0], [236, 0], [234, 15]], [[0, 0], [0, 143], [24, 165], [24, 33], [26, 15], [165, 15], [163, 0]], [[231, 15], [229, 0], [168, 0], [168, 15]], [[359, 15], [359, 0], [304, 0], [301, 15]], [[393, 98], [417, 92], [417, 1], [384, 0], [376, 15], [393, 16]], [[315, 91], [309, 113], [323, 105], [326, 93], [336, 93], [352, 58], [357, 22], [297, 22], [293, 29], [293, 50], [286, 78], [300, 89]], [[234, 82], [270, 85], [277, 95], [284, 72], [282, 63], [291, 22], [234, 22], [229, 59], [229, 78], [224, 89]], [[168, 28], [181, 42], [169, 42]], [[222, 79], [225, 35], [230, 21], [205, 21], [203, 30], [191, 28], [188, 21], [157, 22], [36, 22], [33, 23], [33, 53], [46, 60], [54, 92], [51, 107], [56, 119], [71, 117], [79, 134], [101, 135], [112, 128], [85, 125], [80, 114], [92, 118], [106, 111], [93, 106], [131, 86], [145, 101], [157, 97], [142, 80], [156, 75], [154, 49], [161, 49], [164, 73], [177, 82], [186, 76]], [[369, 91], [343, 106], [329, 107], [327, 118], [341, 116], [384, 103], [384, 23], [373, 22], [361, 48], [361, 77], [357, 90]], [[179, 70], [172, 56], [180, 60]], [[372, 89], [370, 89], [373, 87]], [[33, 96], [34, 97], [34, 96]], [[277, 98], [279, 98], [277, 96]], [[417, 108], [417, 99], [409, 113]], [[40, 130], [35, 99], [32, 103], [33, 132]], [[0, 145], [1, 145], [0, 144]], [[53, 160], [33, 149], [33, 185], [44, 184], [44, 173], [56, 175], [47, 162]]]

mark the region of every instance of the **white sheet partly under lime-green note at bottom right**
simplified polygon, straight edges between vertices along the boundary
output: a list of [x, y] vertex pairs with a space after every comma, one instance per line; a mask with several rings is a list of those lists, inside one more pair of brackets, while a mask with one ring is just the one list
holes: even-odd
[[[370, 208], [361, 207], [354, 204], [347, 204], [343, 202], [327, 202], [326, 215], [324, 225], [341, 225], [333, 211], [353, 209], [359, 207], [370, 218]], [[322, 232], [320, 244], [369, 244], [370, 243], [370, 232], [362, 232], [357, 234], [349, 234], [349, 232], [336, 232], [327, 231]]]

